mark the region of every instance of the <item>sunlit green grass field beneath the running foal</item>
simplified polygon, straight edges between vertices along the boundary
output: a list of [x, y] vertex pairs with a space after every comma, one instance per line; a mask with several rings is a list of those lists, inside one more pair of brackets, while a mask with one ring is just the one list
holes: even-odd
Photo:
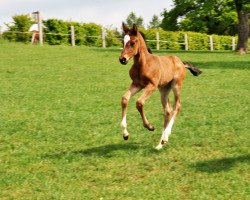
[[[159, 93], [146, 102], [149, 132], [131, 99], [120, 50], [0, 43], [0, 199], [250, 199], [250, 54], [158, 52], [195, 63], [169, 144], [154, 150]], [[131, 65], [131, 62], [129, 63]]]

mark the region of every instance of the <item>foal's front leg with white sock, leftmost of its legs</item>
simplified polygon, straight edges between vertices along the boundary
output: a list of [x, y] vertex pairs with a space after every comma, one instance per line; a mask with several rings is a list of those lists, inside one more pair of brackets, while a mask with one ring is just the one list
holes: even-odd
[[121, 122], [121, 129], [122, 135], [124, 140], [127, 140], [129, 137], [129, 133], [127, 130], [127, 120], [126, 120], [126, 113], [127, 113], [127, 106], [130, 97], [134, 96], [137, 92], [139, 92], [141, 88], [137, 87], [135, 84], [131, 84], [128, 91], [122, 96], [122, 122]]

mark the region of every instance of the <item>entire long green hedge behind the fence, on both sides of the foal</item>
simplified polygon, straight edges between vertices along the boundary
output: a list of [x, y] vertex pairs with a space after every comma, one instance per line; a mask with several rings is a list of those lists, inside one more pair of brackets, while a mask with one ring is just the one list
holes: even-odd
[[[9, 25], [9, 31], [4, 32], [3, 38], [9, 41], [28, 43], [31, 33], [30, 25], [34, 22], [26, 15], [14, 16], [14, 25]], [[75, 44], [83, 46], [102, 46], [102, 26], [95, 23], [65, 22], [58, 19], [44, 20], [44, 42], [49, 45], [70, 45], [70, 26], [75, 28]], [[20, 33], [21, 32], [21, 33]], [[156, 32], [159, 32], [161, 50], [184, 50], [184, 35], [188, 35], [189, 50], [210, 50], [209, 36], [196, 32], [172, 32], [161, 29], [142, 30], [151, 49], [156, 49]], [[214, 50], [232, 50], [232, 37], [212, 35]], [[117, 30], [106, 29], [106, 46], [122, 46], [122, 34]], [[237, 43], [237, 37], [235, 38]], [[248, 40], [250, 47], [250, 39]]]

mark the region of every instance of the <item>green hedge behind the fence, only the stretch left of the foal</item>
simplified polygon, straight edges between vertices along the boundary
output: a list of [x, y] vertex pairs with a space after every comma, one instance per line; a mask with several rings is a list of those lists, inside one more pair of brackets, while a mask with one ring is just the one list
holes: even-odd
[[[14, 25], [9, 25], [3, 38], [12, 42], [31, 41], [32, 33], [29, 27], [34, 23], [28, 16], [14, 16]], [[75, 29], [75, 44], [84, 46], [102, 46], [102, 26], [95, 23], [65, 22], [59, 19], [44, 20], [44, 42], [49, 45], [69, 45], [71, 43], [70, 26]], [[106, 46], [119, 46], [119, 33], [116, 30], [106, 29]]]

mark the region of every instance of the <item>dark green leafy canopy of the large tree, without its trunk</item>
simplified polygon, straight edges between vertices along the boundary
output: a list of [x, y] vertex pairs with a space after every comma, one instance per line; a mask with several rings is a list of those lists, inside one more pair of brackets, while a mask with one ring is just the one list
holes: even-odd
[[208, 34], [234, 35], [237, 13], [233, 0], [174, 0], [175, 7], [164, 10], [162, 28]]

